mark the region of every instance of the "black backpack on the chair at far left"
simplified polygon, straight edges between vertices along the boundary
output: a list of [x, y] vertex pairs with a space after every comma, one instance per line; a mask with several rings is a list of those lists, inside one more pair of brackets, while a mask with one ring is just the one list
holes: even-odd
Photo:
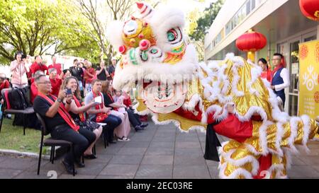
[[27, 88], [13, 88], [9, 93], [10, 106], [14, 110], [25, 110], [30, 107], [27, 97]]

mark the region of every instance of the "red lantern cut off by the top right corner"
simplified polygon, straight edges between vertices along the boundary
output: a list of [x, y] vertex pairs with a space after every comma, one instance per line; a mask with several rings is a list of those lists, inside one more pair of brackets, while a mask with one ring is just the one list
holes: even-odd
[[310, 20], [319, 21], [319, 1], [318, 0], [299, 0], [301, 13]]

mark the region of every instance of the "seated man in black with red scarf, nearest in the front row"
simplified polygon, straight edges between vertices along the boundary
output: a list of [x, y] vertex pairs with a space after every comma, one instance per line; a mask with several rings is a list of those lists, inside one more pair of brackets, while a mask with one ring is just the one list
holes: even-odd
[[[35, 112], [38, 112], [45, 120], [52, 138], [73, 143], [73, 152], [69, 151], [62, 160], [67, 172], [72, 174], [74, 163], [77, 163], [80, 168], [85, 166], [80, 161], [80, 157], [89, 145], [95, 141], [96, 135], [92, 131], [75, 124], [71, 115], [67, 112], [73, 95], [67, 95], [66, 90], [60, 90], [58, 97], [51, 95], [51, 82], [45, 75], [35, 78], [35, 86], [38, 88], [38, 96], [34, 100], [33, 107]], [[65, 98], [67, 103], [63, 104]]]

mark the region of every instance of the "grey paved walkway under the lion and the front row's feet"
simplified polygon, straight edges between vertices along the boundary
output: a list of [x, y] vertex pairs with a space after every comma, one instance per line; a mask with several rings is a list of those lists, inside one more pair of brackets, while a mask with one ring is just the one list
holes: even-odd
[[[203, 158], [205, 134], [181, 133], [173, 124], [157, 126], [150, 122], [144, 131], [131, 131], [129, 142], [119, 141], [106, 149], [103, 141], [96, 146], [96, 160], [85, 160], [78, 175], [68, 175], [60, 160], [52, 165], [43, 160], [36, 175], [38, 160], [0, 156], [0, 178], [218, 178], [218, 163]], [[290, 178], [319, 178], [319, 141], [310, 141], [310, 154], [293, 156]]]

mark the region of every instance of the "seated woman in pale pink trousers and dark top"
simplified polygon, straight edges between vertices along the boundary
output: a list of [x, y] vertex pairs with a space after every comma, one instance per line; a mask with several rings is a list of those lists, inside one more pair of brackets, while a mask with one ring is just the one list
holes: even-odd
[[122, 123], [114, 129], [114, 134], [118, 137], [118, 141], [130, 141], [128, 139], [128, 134], [130, 133], [130, 121], [128, 119], [127, 112], [118, 112], [119, 107], [125, 107], [125, 105], [120, 105], [118, 103], [114, 103], [114, 100], [111, 95], [111, 85], [110, 81], [102, 81], [102, 90], [104, 104], [106, 107], [111, 107], [111, 115], [115, 115], [116, 117], [120, 117], [122, 119]]

